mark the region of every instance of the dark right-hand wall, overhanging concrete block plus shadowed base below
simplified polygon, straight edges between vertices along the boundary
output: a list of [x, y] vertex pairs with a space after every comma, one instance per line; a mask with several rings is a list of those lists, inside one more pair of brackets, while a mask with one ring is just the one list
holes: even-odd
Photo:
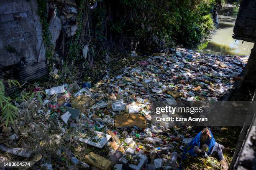
[[[256, 0], [241, 0], [236, 24], [234, 27], [233, 38], [256, 42]], [[256, 45], [251, 50], [248, 63], [238, 90], [237, 97], [239, 100], [250, 100], [251, 94], [256, 89]], [[243, 93], [243, 95], [241, 94]], [[240, 97], [239, 97], [240, 95]]]

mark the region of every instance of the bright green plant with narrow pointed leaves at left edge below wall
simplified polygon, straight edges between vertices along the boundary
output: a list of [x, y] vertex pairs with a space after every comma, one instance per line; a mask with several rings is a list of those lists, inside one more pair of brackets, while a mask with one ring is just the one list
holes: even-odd
[[[20, 83], [16, 80], [8, 80], [8, 85], [20, 86]], [[1, 122], [5, 122], [5, 126], [9, 123], [13, 123], [14, 119], [18, 116], [18, 107], [12, 104], [10, 97], [5, 95], [5, 85], [2, 80], [0, 80], [0, 117]]]

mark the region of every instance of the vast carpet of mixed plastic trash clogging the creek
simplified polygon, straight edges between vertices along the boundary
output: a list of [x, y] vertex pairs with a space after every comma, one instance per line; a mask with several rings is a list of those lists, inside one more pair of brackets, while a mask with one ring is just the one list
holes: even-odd
[[177, 169], [194, 137], [184, 135], [192, 127], [152, 125], [151, 102], [219, 100], [246, 62], [246, 57], [173, 49], [123, 68], [116, 77], [106, 75], [94, 87], [90, 82], [82, 88], [76, 82], [37, 87], [45, 91], [44, 99], [17, 102], [20, 118], [3, 127], [0, 162], [31, 161], [35, 155], [34, 166], [47, 170]]

